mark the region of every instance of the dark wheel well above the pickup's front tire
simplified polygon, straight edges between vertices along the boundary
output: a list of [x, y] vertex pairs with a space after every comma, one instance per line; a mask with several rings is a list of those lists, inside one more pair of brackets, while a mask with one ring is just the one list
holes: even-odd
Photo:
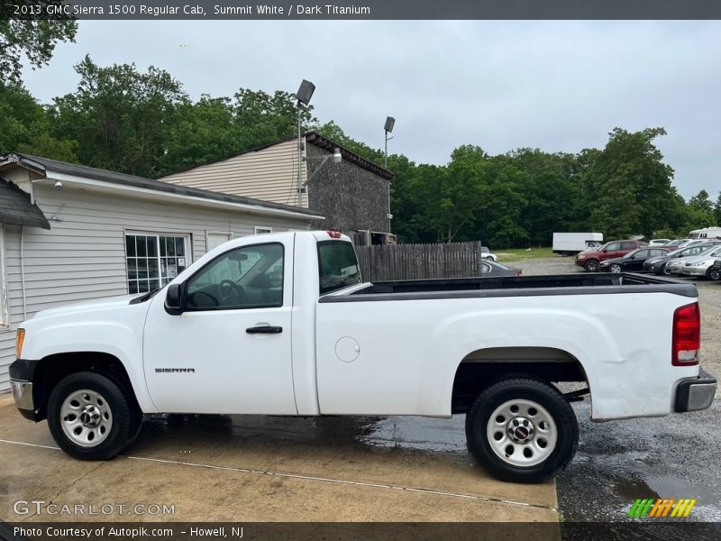
[[98, 352], [56, 353], [41, 359], [33, 374], [32, 400], [38, 421], [47, 417], [48, 399], [58, 381], [78, 371], [96, 372], [111, 378], [137, 406], [128, 372], [123, 362], [114, 355]]

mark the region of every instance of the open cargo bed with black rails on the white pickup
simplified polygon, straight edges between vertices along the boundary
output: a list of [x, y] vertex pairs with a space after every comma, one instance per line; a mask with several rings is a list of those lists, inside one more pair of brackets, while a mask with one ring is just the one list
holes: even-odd
[[379, 281], [333, 292], [320, 298], [319, 302], [659, 292], [691, 298], [698, 296], [696, 285], [688, 282], [622, 272]]

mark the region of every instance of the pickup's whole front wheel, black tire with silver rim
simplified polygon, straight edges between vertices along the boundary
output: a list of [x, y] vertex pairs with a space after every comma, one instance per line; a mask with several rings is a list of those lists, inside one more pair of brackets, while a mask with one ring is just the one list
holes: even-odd
[[142, 416], [134, 399], [103, 374], [82, 371], [50, 393], [48, 426], [59, 447], [80, 460], [108, 460], [137, 436]]

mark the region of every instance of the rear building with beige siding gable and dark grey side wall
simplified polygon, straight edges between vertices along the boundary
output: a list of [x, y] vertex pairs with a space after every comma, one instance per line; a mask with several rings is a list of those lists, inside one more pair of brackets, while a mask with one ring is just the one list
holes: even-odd
[[302, 206], [324, 216], [323, 224], [316, 227], [350, 234], [360, 244], [371, 243], [371, 238], [373, 243], [394, 239], [390, 233], [392, 173], [318, 133], [306, 133], [302, 142], [300, 160], [297, 139], [290, 139], [159, 180]]

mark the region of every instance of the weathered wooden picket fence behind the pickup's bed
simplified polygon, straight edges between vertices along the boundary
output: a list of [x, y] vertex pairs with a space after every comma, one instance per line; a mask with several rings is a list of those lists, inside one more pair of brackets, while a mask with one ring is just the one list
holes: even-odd
[[480, 276], [480, 242], [356, 246], [364, 281]]

